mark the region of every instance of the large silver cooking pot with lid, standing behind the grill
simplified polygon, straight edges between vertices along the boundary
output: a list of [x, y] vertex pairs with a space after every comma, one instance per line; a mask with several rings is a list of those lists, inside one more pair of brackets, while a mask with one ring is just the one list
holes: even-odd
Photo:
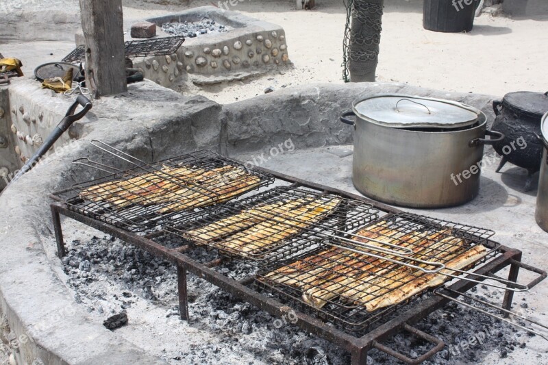
[[[395, 106], [379, 112], [386, 103], [377, 100], [384, 99], [371, 99], [386, 97]], [[504, 138], [486, 130], [480, 110], [454, 101], [377, 95], [352, 107], [340, 121], [355, 129], [353, 184], [384, 203], [426, 208], [471, 201], [479, 192], [484, 144]]]

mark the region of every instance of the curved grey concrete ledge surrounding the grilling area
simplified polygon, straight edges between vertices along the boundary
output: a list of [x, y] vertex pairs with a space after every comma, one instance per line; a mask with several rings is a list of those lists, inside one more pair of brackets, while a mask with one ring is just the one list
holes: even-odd
[[[27, 83], [21, 88], [33, 87], [30, 81], [21, 82]], [[71, 162], [81, 157], [110, 162], [90, 140], [103, 140], [147, 161], [201, 148], [229, 155], [259, 153], [287, 138], [297, 148], [343, 144], [351, 142], [351, 134], [339, 125], [340, 112], [358, 95], [396, 91], [464, 101], [493, 118], [491, 97], [401, 84], [293, 88], [221, 108], [203, 97], [183, 97], [144, 82], [131, 86], [125, 97], [96, 101], [82, 139], [8, 186], [0, 197], [0, 314], [4, 331], [10, 331], [8, 339], [21, 342], [14, 342], [18, 364], [39, 364], [38, 359], [45, 364], [162, 363], [90, 320], [64, 285], [55, 247], [45, 239], [53, 235], [47, 194], [96, 177]], [[59, 108], [69, 103], [60, 101]]]

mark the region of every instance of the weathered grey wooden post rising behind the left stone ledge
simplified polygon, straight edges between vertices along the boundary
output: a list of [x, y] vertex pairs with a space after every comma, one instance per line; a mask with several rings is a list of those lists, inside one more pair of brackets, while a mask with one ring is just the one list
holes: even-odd
[[127, 91], [122, 0], [80, 0], [86, 86], [94, 97]]

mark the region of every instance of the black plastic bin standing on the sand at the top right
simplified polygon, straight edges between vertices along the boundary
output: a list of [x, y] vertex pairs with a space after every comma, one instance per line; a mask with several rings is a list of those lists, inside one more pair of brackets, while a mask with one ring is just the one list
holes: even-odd
[[479, 0], [424, 0], [423, 27], [434, 32], [470, 32]]

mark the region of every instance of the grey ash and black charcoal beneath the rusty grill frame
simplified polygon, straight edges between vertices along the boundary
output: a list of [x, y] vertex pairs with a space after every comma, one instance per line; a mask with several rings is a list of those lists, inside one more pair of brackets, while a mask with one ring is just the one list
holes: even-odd
[[[175, 238], [165, 238], [160, 242], [171, 247], [181, 245]], [[179, 307], [175, 267], [130, 244], [109, 236], [94, 236], [89, 240], [73, 240], [69, 248], [63, 264], [69, 277], [68, 284], [75, 290], [76, 301], [86, 307], [97, 323], [123, 310], [127, 312], [130, 324], [134, 323], [132, 318], [147, 316], [151, 308], [155, 313], [160, 311], [163, 313], [161, 316], [171, 322], [164, 323], [155, 317], [153, 326], [158, 328], [158, 332], [166, 333], [164, 341], [172, 346], [160, 353], [155, 352], [159, 350], [153, 346], [146, 350], [164, 357], [171, 364], [212, 365], [225, 362], [229, 356], [251, 358], [255, 364], [273, 365], [343, 365], [350, 362], [349, 353], [334, 344], [306, 333], [292, 325], [290, 320], [280, 320], [249, 303], [238, 301], [191, 274], [188, 274], [187, 284], [191, 321], [184, 323], [177, 320]], [[216, 251], [201, 247], [192, 249], [188, 255], [200, 262], [217, 257]], [[251, 275], [256, 268], [251, 264], [232, 261], [216, 270], [238, 280]], [[501, 302], [501, 294], [486, 287], [472, 294], [493, 303]], [[520, 305], [516, 307], [525, 311]], [[522, 331], [454, 303], [419, 321], [415, 327], [441, 338], [447, 344], [444, 351], [425, 364], [477, 363], [486, 353], [493, 351], [500, 357], [506, 357], [517, 347], [525, 347], [528, 338]], [[123, 331], [123, 328], [116, 331]], [[486, 329], [489, 333], [482, 339], [482, 344], [476, 343], [467, 349], [460, 347], [461, 342], [469, 341], [474, 336], [479, 338], [482, 336], [479, 333]], [[188, 344], [184, 342], [186, 336], [173, 336], [173, 331], [199, 331], [204, 338]], [[147, 334], [142, 333], [142, 336]], [[425, 353], [433, 346], [406, 332], [384, 343], [412, 357]], [[369, 352], [367, 363], [401, 364], [377, 350]]]

